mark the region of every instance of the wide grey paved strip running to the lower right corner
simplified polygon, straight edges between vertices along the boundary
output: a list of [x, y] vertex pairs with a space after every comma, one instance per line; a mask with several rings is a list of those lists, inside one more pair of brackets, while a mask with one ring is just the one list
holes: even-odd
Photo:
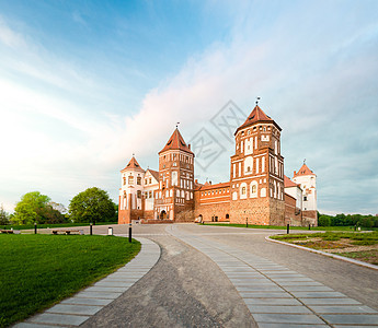
[[167, 232], [219, 266], [259, 327], [378, 327], [375, 309], [305, 274], [201, 235], [181, 233], [177, 225]]

